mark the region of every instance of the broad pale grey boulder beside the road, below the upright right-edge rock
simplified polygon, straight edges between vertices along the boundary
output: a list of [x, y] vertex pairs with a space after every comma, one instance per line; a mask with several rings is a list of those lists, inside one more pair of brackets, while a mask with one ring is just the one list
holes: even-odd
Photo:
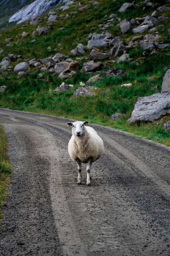
[[128, 122], [153, 122], [163, 116], [170, 115], [169, 99], [169, 92], [159, 92], [151, 96], [139, 97]]

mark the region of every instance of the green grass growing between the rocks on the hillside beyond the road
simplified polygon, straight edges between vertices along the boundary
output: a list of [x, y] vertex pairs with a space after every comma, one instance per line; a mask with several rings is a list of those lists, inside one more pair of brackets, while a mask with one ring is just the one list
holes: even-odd
[[[85, 2], [84, 0], [81, 1], [83, 5]], [[142, 11], [144, 4], [139, 4], [140, 1], [136, 1], [138, 5], [135, 10], [127, 10], [124, 13], [117, 12], [122, 3], [125, 2], [124, 0], [100, 0], [99, 2], [100, 4], [92, 7], [92, 9], [83, 13], [78, 12], [74, 18], [57, 19], [57, 22], [51, 25], [51, 31], [47, 35], [36, 37], [35, 42], [31, 42], [31, 36], [21, 39], [20, 37], [16, 37], [16, 35], [18, 33], [21, 34], [23, 31], [29, 32], [31, 35], [32, 29], [36, 28], [37, 25], [26, 28], [18, 25], [13, 29], [4, 31], [1, 36], [2, 43], [0, 44], [0, 47], [5, 50], [3, 56], [14, 53], [16, 55], [22, 55], [23, 59], [43, 59], [60, 52], [71, 57], [70, 50], [75, 48], [78, 43], [87, 45], [89, 33], [101, 33], [98, 25], [103, 22], [107, 23], [106, 20], [110, 14], [115, 13], [122, 19], [127, 18], [130, 20], [131, 18], [151, 15], [153, 12], [153, 9]], [[160, 6], [160, 4], [155, 3], [154, 10], [157, 6]], [[77, 7], [72, 7], [62, 14], [69, 14], [71, 11], [76, 10], [78, 10]], [[58, 11], [58, 15], [60, 14], [60, 11]], [[105, 17], [106, 14], [108, 15], [107, 17]], [[44, 19], [40, 23], [40, 26], [46, 25], [46, 22], [47, 19]], [[158, 31], [159, 34], [165, 37], [160, 42], [167, 43], [168, 23], [168, 21], [160, 22], [164, 26]], [[122, 35], [120, 28], [116, 27], [117, 24], [118, 21], [115, 19], [115, 26], [108, 28], [107, 31], [115, 36], [121, 36], [123, 43], [127, 44], [134, 34], [130, 31], [127, 35]], [[63, 26], [64, 29], [60, 29], [60, 26]], [[6, 43], [4, 41], [8, 37], [13, 37], [15, 40], [12, 46], [5, 47]], [[58, 44], [61, 44], [61, 47]], [[130, 58], [138, 62], [142, 57], [143, 50], [137, 46], [135, 49], [129, 49], [129, 53]], [[104, 80], [96, 82], [94, 85], [99, 87], [99, 90], [97, 95], [92, 97], [79, 96], [70, 99], [75, 89], [79, 87], [79, 82], [86, 82], [90, 78], [90, 75], [85, 75], [81, 71], [78, 71], [77, 75], [72, 79], [65, 81], [67, 84], [74, 85], [74, 89], [69, 92], [60, 93], [53, 92], [53, 90], [60, 86], [61, 79], [44, 72], [47, 80], [41, 80], [38, 78], [38, 74], [42, 72], [38, 69], [36, 71], [32, 69], [30, 73], [20, 79], [17, 79], [18, 75], [13, 72], [3, 74], [0, 79], [0, 86], [6, 85], [7, 88], [5, 93], [0, 95], [0, 107], [40, 112], [79, 120], [88, 119], [91, 122], [115, 127], [116, 129], [131, 132], [137, 136], [169, 145], [169, 134], [163, 129], [163, 124], [167, 120], [166, 118], [160, 121], [159, 125], [152, 123], [132, 126], [126, 123], [126, 120], [130, 118], [134, 109], [137, 97], [147, 96], [161, 91], [165, 66], [170, 64], [170, 58], [167, 56], [167, 53], [169, 53], [167, 48], [164, 50], [159, 49], [159, 56], [149, 56], [143, 59], [139, 66], [130, 62], [107, 65], [102, 72], [108, 68], [120, 68], [125, 71], [125, 75], [115, 78], [106, 77]], [[86, 56], [89, 57], [88, 55], [89, 51], [86, 49]], [[1, 59], [3, 56], [1, 56]], [[81, 67], [83, 62], [80, 63]], [[107, 61], [104, 63], [106, 64]], [[154, 76], [154, 79], [151, 81], [148, 80], [150, 76]], [[120, 85], [124, 83], [132, 83], [133, 87], [121, 88]], [[110, 91], [103, 93], [106, 89]], [[112, 114], [116, 112], [125, 114], [125, 118], [115, 122], [111, 121]]]

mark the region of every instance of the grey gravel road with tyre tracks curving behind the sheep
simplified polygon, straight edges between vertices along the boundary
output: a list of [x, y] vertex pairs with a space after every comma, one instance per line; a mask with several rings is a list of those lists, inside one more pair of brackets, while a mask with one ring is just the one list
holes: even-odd
[[169, 150], [91, 124], [105, 150], [78, 186], [68, 121], [0, 108], [13, 166], [0, 256], [170, 255]]

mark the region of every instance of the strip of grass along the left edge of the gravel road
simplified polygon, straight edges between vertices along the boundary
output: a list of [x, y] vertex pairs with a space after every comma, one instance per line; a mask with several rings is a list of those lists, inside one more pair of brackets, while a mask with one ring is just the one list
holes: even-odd
[[6, 187], [11, 174], [11, 164], [7, 155], [7, 139], [3, 127], [0, 125], [0, 222], [2, 219], [2, 208], [6, 206]]

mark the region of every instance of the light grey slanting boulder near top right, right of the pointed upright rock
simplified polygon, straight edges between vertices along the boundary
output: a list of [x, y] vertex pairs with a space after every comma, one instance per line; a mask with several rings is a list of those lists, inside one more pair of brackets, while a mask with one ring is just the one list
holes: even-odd
[[154, 25], [156, 25], [157, 22], [158, 22], [158, 20], [156, 18], [146, 16], [145, 20], [137, 28], [133, 29], [133, 33], [134, 34], [143, 33], [146, 30], [153, 28]]

